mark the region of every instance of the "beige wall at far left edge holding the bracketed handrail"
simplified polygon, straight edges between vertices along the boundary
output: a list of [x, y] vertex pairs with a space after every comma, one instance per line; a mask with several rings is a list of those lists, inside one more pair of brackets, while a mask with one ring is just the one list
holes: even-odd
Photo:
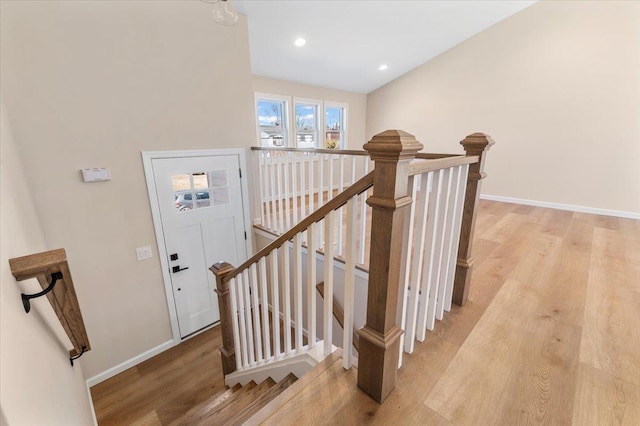
[[49, 250], [27, 187], [0, 100], [0, 423], [78, 425], [93, 423], [82, 366], [69, 366], [71, 344], [46, 297], [24, 312], [20, 293], [41, 290], [36, 280], [16, 282], [13, 257]]

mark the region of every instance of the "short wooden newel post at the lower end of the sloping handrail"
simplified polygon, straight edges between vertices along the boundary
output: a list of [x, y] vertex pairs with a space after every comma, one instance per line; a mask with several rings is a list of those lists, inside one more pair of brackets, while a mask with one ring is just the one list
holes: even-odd
[[224, 375], [236, 371], [236, 349], [233, 343], [233, 326], [231, 315], [231, 296], [229, 293], [229, 282], [224, 278], [233, 272], [235, 268], [227, 262], [218, 262], [209, 268], [216, 276], [216, 294], [218, 295], [218, 306], [220, 307], [220, 329], [222, 331], [222, 346], [220, 346], [220, 357], [222, 359], [222, 372]]

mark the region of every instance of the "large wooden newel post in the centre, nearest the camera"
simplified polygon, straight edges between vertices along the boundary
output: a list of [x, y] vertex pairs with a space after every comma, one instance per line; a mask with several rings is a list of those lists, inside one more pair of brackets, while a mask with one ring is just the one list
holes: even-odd
[[387, 130], [364, 145], [375, 161], [367, 320], [358, 331], [358, 387], [382, 403], [393, 390], [398, 372], [402, 329], [396, 325], [400, 256], [408, 191], [409, 162], [422, 149], [413, 135]]

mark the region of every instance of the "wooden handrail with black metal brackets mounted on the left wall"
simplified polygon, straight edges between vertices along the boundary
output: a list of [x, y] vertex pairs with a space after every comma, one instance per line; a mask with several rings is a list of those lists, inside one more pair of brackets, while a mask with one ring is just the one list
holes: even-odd
[[64, 249], [31, 254], [9, 259], [11, 273], [17, 281], [36, 278], [43, 291], [35, 294], [23, 294], [22, 304], [25, 311], [31, 310], [30, 300], [47, 296], [53, 311], [69, 337], [73, 349], [69, 351], [69, 361], [91, 350], [87, 331], [84, 327], [80, 305], [73, 287], [67, 254]]

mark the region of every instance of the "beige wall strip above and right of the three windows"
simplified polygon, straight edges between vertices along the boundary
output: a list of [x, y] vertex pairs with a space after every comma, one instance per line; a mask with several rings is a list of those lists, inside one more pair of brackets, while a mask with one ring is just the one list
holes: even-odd
[[[253, 76], [253, 90], [258, 93], [332, 101], [348, 104], [347, 109], [347, 149], [362, 149], [365, 140], [367, 96], [360, 93], [344, 92], [309, 86], [285, 80]], [[255, 112], [254, 112], [255, 114]]]

